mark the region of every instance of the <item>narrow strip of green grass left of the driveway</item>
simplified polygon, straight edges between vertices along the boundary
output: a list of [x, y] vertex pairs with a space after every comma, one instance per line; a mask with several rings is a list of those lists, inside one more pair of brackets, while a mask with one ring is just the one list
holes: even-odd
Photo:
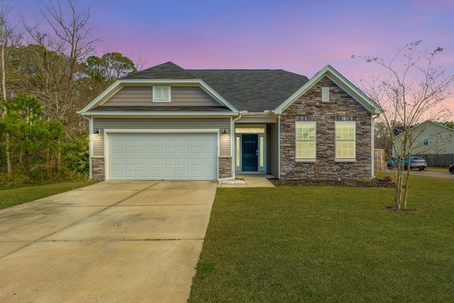
[[52, 194], [60, 194], [60, 192], [67, 192], [90, 184], [93, 184], [93, 182], [67, 181], [14, 189], [1, 189], [0, 209], [6, 209], [7, 207], [49, 197], [52, 196]]

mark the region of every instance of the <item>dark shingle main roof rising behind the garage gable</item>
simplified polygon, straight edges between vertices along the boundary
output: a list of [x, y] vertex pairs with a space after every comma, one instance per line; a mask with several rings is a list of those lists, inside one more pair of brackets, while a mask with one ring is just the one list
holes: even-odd
[[184, 70], [173, 62], [123, 79], [202, 79], [238, 111], [276, 109], [309, 79], [284, 70]]

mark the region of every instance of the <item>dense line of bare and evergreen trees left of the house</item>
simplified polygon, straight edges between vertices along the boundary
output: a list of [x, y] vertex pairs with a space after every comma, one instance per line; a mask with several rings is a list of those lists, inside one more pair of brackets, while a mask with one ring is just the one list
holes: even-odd
[[142, 66], [94, 55], [90, 9], [77, 1], [37, 5], [44, 27], [13, 20], [1, 1], [0, 187], [87, 176], [88, 122], [77, 111]]

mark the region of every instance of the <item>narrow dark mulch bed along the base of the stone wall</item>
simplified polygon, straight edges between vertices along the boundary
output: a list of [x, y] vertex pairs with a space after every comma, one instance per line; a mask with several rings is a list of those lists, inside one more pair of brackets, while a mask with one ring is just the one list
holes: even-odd
[[310, 185], [310, 186], [333, 186], [333, 187], [384, 187], [394, 188], [394, 182], [386, 182], [380, 180], [323, 180], [316, 182], [314, 180], [279, 180], [268, 179], [275, 186], [294, 186], [294, 185]]

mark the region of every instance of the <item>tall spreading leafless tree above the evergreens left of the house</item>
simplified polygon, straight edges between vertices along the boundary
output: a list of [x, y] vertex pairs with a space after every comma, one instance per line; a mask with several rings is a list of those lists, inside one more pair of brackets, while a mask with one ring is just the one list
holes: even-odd
[[19, 71], [22, 80], [16, 84], [22, 89], [27, 87], [27, 92], [38, 97], [48, 119], [62, 122], [69, 136], [83, 124], [76, 114], [85, 103], [74, 81], [79, 63], [93, 53], [99, 39], [92, 37], [90, 8], [78, 9], [74, 0], [66, 0], [65, 5], [59, 0], [49, 0], [38, 6], [52, 32], [45, 33], [39, 26], [24, 24], [29, 48], [24, 60], [31, 61], [31, 72], [39, 81], [31, 82], [29, 75]]

